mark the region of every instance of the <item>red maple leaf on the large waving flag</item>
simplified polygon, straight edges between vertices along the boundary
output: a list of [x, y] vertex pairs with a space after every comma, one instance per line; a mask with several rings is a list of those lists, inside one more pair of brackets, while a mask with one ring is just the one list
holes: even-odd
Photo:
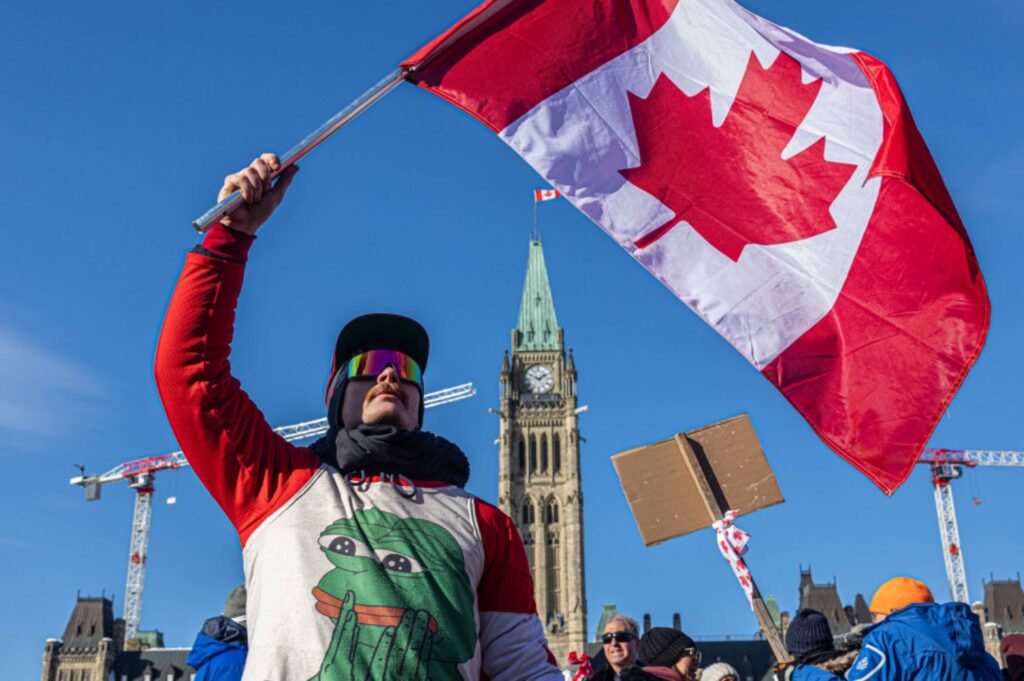
[[681, 220], [736, 261], [748, 244], [784, 244], [836, 228], [828, 207], [856, 166], [824, 159], [824, 137], [788, 159], [793, 139], [821, 89], [801, 83], [780, 52], [762, 69], [754, 53], [720, 127], [711, 89], [690, 97], [662, 74], [646, 98], [630, 92], [640, 165], [618, 172], [675, 216], [635, 244], [645, 248]]

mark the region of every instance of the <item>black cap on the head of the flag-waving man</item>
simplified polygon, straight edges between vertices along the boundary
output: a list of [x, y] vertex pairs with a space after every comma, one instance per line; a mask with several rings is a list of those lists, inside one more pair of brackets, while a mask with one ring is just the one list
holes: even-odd
[[[327, 381], [327, 418], [331, 426], [341, 426], [341, 399], [345, 394], [346, 380], [339, 377], [338, 369], [346, 361], [368, 350], [398, 350], [411, 356], [420, 365], [420, 371], [427, 369], [430, 354], [430, 337], [427, 330], [416, 320], [401, 314], [375, 312], [357, 316], [341, 330], [334, 344], [331, 361], [331, 376]], [[341, 380], [339, 380], [341, 378]], [[420, 390], [420, 425], [423, 425], [423, 390]]]

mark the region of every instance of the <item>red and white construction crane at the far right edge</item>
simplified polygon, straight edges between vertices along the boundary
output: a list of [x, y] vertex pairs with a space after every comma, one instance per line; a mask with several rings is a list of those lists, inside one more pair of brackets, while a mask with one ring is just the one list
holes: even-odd
[[918, 460], [932, 469], [935, 487], [935, 511], [939, 515], [942, 557], [946, 561], [949, 594], [954, 601], [970, 603], [964, 572], [964, 549], [959, 543], [953, 491], [949, 482], [964, 474], [964, 468], [976, 466], [1024, 466], [1024, 452], [982, 452], [978, 450], [925, 450]]

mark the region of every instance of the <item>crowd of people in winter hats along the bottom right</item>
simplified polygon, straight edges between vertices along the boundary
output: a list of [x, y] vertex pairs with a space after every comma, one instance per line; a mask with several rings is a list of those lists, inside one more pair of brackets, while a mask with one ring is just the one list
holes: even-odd
[[[776, 681], [1022, 681], [1024, 634], [1002, 640], [1007, 667], [986, 649], [978, 618], [966, 603], [936, 603], [928, 587], [898, 577], [871, 598], [874, 622], [834, 636], [824, 614], [803, 608], [785, 631], [790, 658]], [[574, 678], [591, 681], [745, 681], [733, 667], [701, 668], [699, 645], [684, 632], [655, 627], [640, 635], [616, 614], [601, 636], [607, 667]], [[758, 680], [760, 681], [760, 680]]]

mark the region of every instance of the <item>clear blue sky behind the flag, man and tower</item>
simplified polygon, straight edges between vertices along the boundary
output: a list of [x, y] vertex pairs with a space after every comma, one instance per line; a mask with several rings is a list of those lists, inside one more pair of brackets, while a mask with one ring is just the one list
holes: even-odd
[[[132, 495], [86, 504], [74, 463], [100, 472], [176, 449], [154, 389], [157, 333], [189, 221], [223, 175], [284, 151], [466, 11], [431, 3], [13, 3], [0, 25], [0, 657], [39, 674], [78, 590], [117, 595]], [[900, 79], [977, 247], [992, 298], [981, 359], [933, 445], [1024, 450], [1018, 3], [751, 1], [820, 42], [886, 59]], [[352, 315], [421, 318], [439, 388], [471, 400], [427, 425], [459, 442], [470, 487], [497, 493], [502, 350], [514, 326], [544, 186], [467, 116], [401, 86], [302, 164], [261, 233], [239, 312], [236, 374], [273, 424], [319, 417], [329, 348]], [[582, 400], [591, 627], [614, 602], [695, 635], [755, 629], [708, 533], [644, 549], [610, 455], [751, 413], [786, 503], [744, 520], [766, 593], [796, 605], [798, 567], [843, 597], [895, 573], [947, 593], [925, 470], [886, 498], [819, 442], [785, 400], [596, 226], [542, 206], [558, 318]], [[972, 595], [1024, 566], [1024, 470], [955, 483]], [[169, 495], [177, 504], [168, 506]], [[980, 506], [971, 503], [981, 500]], [[188, 645], [242, 579], [227, 521], [191, 472], [158, 478], [142, 625]]]

